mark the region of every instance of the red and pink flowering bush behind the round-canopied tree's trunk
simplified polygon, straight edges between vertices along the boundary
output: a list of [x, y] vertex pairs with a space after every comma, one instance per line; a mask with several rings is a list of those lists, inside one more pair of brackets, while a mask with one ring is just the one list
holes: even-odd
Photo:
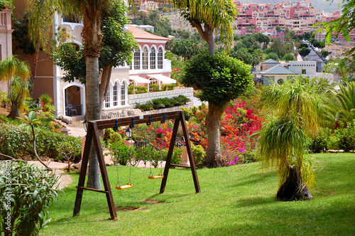
[[[195, 112], [187, 129], [195, 144], [207, 149], [207, 127], [205, 125], [207, 109]], [[227, 107], [221, 119], [219, 141], [222, 159], [227, 166], [258, 160], [256, 137], [251, 135], [261, 128], [261, 119], [253, 109], [246, 107], [246, 102], [234, 100]]]

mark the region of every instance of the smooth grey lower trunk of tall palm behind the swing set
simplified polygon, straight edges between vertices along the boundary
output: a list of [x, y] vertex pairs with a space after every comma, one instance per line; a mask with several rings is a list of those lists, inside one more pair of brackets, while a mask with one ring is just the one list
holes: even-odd
[[[99, 100], [99, 58], [87, 57], [87, 76], [86, 76], [86, 97], [88, 121], [100, 119], [100, 100]], [[99, 161], [92, 143], [89, 154], [89, 175], [87, 178], [87, 187], [101, 189]]]

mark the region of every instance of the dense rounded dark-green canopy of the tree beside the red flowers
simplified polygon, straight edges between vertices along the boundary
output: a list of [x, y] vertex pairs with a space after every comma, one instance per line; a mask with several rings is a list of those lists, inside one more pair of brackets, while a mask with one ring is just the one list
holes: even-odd
[[185, 64], [182, 84], [202, 90], [200, 99], [223, 106], [253, 87], [251, 66], [225, 53], [200, 54]]

